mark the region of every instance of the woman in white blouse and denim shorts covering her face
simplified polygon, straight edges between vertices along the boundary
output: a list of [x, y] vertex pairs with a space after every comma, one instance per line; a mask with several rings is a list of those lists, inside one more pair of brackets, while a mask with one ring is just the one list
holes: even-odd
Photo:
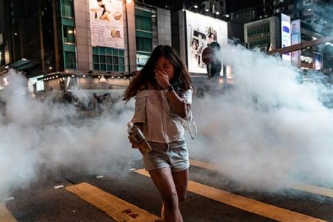
[[[189, 178], [182, 121], [191, 105], [192, 82], [171, 46], [154, 49], [123, 100], [133, 96], [136, 101], [132, 122], [151, 144], [152, 151], [144, 155], [144, 164], [162, 196], [162, 219], [165, 216], [165, 221], [180, 222], [178, 203], [185, 200]], [[137, 145], [133, 144], [133, 148]]]

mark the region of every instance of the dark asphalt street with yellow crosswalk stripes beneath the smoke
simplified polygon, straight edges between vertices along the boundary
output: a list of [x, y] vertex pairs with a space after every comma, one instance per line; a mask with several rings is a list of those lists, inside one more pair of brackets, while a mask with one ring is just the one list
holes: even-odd
[[[117, 175], [43, 172], [43, 179], [12, 194], [0, 221], [159, 221], [160, 196], [143, 167], [135, 161]], [[295, 184], [279, 194], [241, 191], [213, 164], [197, 160], [189, 172], [189, 194], [180, 204], [184, 221], [333, 221], [331, 189]]]

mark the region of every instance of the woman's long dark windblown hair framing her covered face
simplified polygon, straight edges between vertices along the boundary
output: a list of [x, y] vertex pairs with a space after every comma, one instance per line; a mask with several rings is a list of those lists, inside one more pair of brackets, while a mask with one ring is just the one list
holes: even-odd
[[128, 88], [123, 95], [123, 100], [130, 100], [130, 98], [135, 96], [137, 91], [142, 87], [147, 89], [148, 83], [151, 83], [151, 85], [157, 85], [154, 69], [160, 56], [165, 56], [173, 65], [174, 76], [171, 79], [171, 85], [180, 91], [186, 91], [193, 88], [191, 76], [189, 76], [189, 72], [176, 50], [174, 50], [171, 46], [160, 45], [153, 50], [151, 56], [146, 62], [146, 65], [144, 65], [139, 74], [137, 74], [137, 76], [135, 76], [130, 82], [130, 85], [128, 85]]

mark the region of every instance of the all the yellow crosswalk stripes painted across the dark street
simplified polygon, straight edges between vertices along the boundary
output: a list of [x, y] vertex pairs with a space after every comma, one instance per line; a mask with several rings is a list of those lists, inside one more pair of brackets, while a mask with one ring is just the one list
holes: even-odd
[[[191, 165], [200, 167], [200, 169], [207, 169], [209, 171], [217, 171], [215, 164], [209, 162], [202, 162], [198, 160], [190, 160]], [[135, 173], [149, 177], [149, 173], [144, 169], [138, 169]], [[140, 177], [140, 176], [139, 176]], [[144, 178], [144, 177], [142, 177]], [[316, 187], [313, 185], [304, 185], [301, 183], [294, 183], [290, 186], [292, 189], [298, 189], [311, 194], [326, 196], [329, 198], [333, 197], [333, 190], [323, 187]], [[102, 210], [114, 221], [138, 221], [138, 222], [159, 222], [161, 221], [160, 216], [157, 216], [151, 212], [148, 212], [139, 206], [128, 203], [113, 194], [103, 191], [99, 187], [90, 185], [87, 182], [78, 183], [65, 188], [69, 193], [75, 194], [78, 198], [85, 200], [87, 203], [94, 205], [98, 209]], [[235, 209], [249, 212], [253, 215], [259, 215], [264, 218], [275, 220], [275, 221], [286, 221], [286, 222], [323, 222], [325, 220], [319, 219], [313, 216], [306, 215], [306, 212], [299, 213], [291, 210], [270, 205], [268, 203], [254, 200], [245, 196], [232, 194], [231, 192], [223, 189], [216, 189], [208, 185], [202, 184], [197, 181], [189, 180], [188, 184], [189, 192], [198, 194], [203, 198], [215, 200], [218, 203], [230, 205]], [[7, 208], [0, 203], [0, 221], [1, 222], [17, 222], [16, 219], [8, 212]], [[185, 216], [186, 221], [186, 216]]]

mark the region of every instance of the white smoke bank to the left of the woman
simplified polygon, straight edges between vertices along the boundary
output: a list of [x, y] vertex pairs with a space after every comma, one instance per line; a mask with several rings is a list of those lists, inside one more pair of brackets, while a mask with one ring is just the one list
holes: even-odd
[[32, 99], [25, 92], [26, 79], [10, 73], [10, 86], [0, 92], [6, 102], [6, 114], [0, 115], [0, 199], [41, 171], [120, 175], [139, 157], [126, 133], [133, 103], [119, 102], [117, 112], [87, 118], [74, 105]]

